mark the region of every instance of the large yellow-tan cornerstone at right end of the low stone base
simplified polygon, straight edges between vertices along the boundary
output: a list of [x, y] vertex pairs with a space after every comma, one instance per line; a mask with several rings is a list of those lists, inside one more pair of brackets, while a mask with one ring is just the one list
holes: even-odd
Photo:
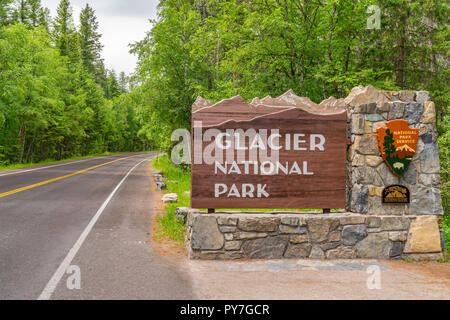
[[442, 252], [438, 219], [435, 216], [418, 217], [411, 222], [405, 253]]

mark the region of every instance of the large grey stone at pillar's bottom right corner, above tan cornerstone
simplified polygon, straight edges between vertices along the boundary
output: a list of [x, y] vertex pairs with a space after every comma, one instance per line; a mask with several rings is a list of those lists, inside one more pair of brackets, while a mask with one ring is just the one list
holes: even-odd
[[444, 214], [444, 209], [442, 207], [442, 197], [439, 189], [418, 184], [411, 188], [410, 191], [411, 214]]

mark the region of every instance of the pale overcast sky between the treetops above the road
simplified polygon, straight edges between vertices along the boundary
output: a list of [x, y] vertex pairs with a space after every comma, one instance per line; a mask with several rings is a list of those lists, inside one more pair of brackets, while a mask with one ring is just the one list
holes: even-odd
[[[60, 0], [42, 0], [52, 18]], [[136, 57], [129, 54], [128, 44], [142, 40], [150, 30], [149, 19], [156, 18], [158, 0], [71, 0], [75, 24], [79, 25], [80, 11], [89, 3], [94, 8], [104, 45], [102, 57], [108, 69], [131, 73]]]

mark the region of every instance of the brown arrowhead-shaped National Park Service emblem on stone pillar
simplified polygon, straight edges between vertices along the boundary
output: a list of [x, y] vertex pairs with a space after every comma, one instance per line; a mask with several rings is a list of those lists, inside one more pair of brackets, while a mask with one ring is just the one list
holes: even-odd
[[416, 154], [419, 129], [410, 128], [406, 120], [389, 121], [386, 126], [377, 130], [381, 156], [389, 169], [400, 177]]

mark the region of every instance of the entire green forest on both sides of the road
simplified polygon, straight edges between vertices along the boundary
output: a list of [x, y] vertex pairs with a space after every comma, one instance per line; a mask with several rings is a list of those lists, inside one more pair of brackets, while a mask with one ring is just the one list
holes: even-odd
[[[0, 161], [168, 150], [198, 95], [315, 102], [357, 85], [428, 90], [449, 126], [445, 0], [161, 0], [129, 79], [105, 70], [93, 9], [0, 0]], [[131, 4], [130, 4], [131, 5]], [[379, 29], [368, 29], [381, 10]], [[101, 21], [100, 21], [101, 23]], [[445, 147], [448, 150], [448, 147]], [[448, 157], [447, 157], [448, 158]]]

